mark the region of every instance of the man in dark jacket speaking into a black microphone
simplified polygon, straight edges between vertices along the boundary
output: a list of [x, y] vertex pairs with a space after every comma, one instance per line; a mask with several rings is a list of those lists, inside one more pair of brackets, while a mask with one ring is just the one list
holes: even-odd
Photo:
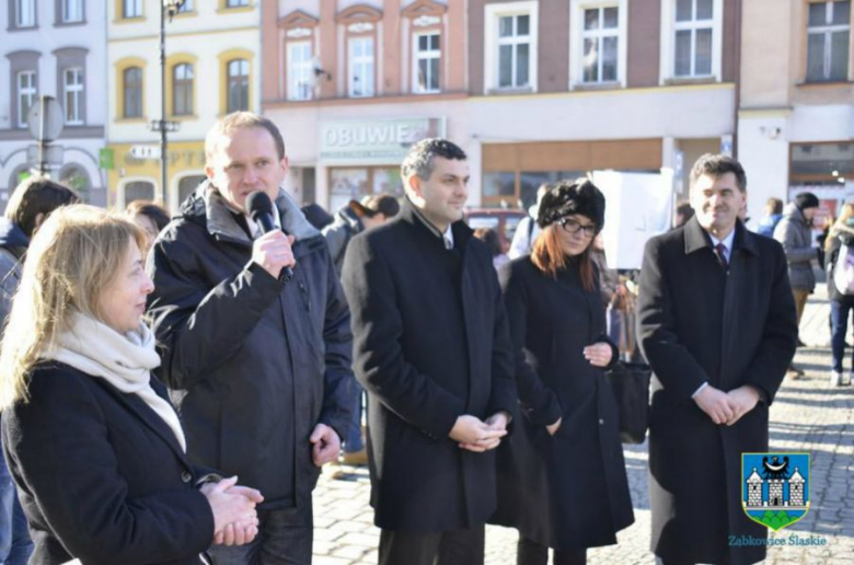
[[276, 125], [230, 114], [205, 158], [148, 258], [160, 377], [191, 459], [264, 494], [255, 541], [211, 547], [217, 564], [308, 564], [311, 492], [349, 423], [349, 311], [325, 240], [280, 187]]

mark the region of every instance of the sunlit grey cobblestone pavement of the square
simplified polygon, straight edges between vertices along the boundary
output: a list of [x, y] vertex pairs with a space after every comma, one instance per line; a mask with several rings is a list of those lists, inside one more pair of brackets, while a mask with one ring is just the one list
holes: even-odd
[[[771, 449], [807, 451], [811, 461], [811, 508], [798, 523], [782, 530], [786, 545], [771, 547], [765, 563], [854, 564], [854, 388], [827, 385], [830, 350], [829, 305], [822, 293], [810, 300], [801, 323], [808, 347], [796, 362], [806, 371], [786, 380], [771, 408]], [[818, 346], [818, 347], [813, 347]], [[850, 358], [850, 354], [849, 354]], [[846, 368], [847, 368], [847, 360]], [[625, 448], [635, 523], [620, 532], [619, 544], [588, 552], [591, 564], [649, 564], [649, 495], [646, 445]], [[377, 563], [379, 530], [368, 506], [367, 469], [327, 468], [315, 491], [314, 563]], [[793, 545], [790, 540], [826, 541], [826, 545]], [[516, 530], [487, 527], [487, 565], [516, 563]]]

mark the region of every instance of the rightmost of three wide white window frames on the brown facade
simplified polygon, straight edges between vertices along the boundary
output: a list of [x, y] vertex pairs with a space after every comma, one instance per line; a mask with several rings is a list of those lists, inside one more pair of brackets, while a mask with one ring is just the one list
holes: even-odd
[[[724, 42], [724, 0], [712, 0], [712, 69], [708, 74], [677, 74], [676, 73], [676, 34], [677, 31], [684, 31], [690, 27], [690, 23], [677, 22], [677, 1], [661, 0], [661, 50], [659, 59], [659, 83], [691, 83], [691, 82], [720, 82], [723, 80], [723, 42]], [[692, 0], [692, 14], [695, 13], [694, 7], [696, 0]], [[691, 22], [695, 22], [692, 20]], [[708, 22], [708, 20], [701, 20]], [[694, 26], [695, 28], [696, 26]], [[702, 28], [707, 25], [703, 23]], [[695, 33], [692, 33], [692, 61], [691, 68], [694, 68], [695, 58]]]

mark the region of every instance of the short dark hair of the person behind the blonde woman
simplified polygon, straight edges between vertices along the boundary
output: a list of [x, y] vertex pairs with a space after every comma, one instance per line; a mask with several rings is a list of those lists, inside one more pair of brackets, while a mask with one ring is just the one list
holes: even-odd
[[31, 176], [15, 186], [4, 216], [21, 228], [24, 235], [32, 238], [36, 228], [36, 217], [39, 214], [47, 217], [60, 206], [79, 201], [80, 197], [68, 186], [44, 176]]

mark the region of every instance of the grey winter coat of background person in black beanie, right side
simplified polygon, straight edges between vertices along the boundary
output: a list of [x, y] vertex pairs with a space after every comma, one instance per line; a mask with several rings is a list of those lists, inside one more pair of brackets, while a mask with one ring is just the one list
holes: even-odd
[[812, 262], [818, 260], [818, 247], [812, 246], [812, 228], [794, 203], [783, 209], [783, 218], [774, 228], [774, 239], [783, 244], [786, 252], [792, 288], [812, 292], [816, 288]]

